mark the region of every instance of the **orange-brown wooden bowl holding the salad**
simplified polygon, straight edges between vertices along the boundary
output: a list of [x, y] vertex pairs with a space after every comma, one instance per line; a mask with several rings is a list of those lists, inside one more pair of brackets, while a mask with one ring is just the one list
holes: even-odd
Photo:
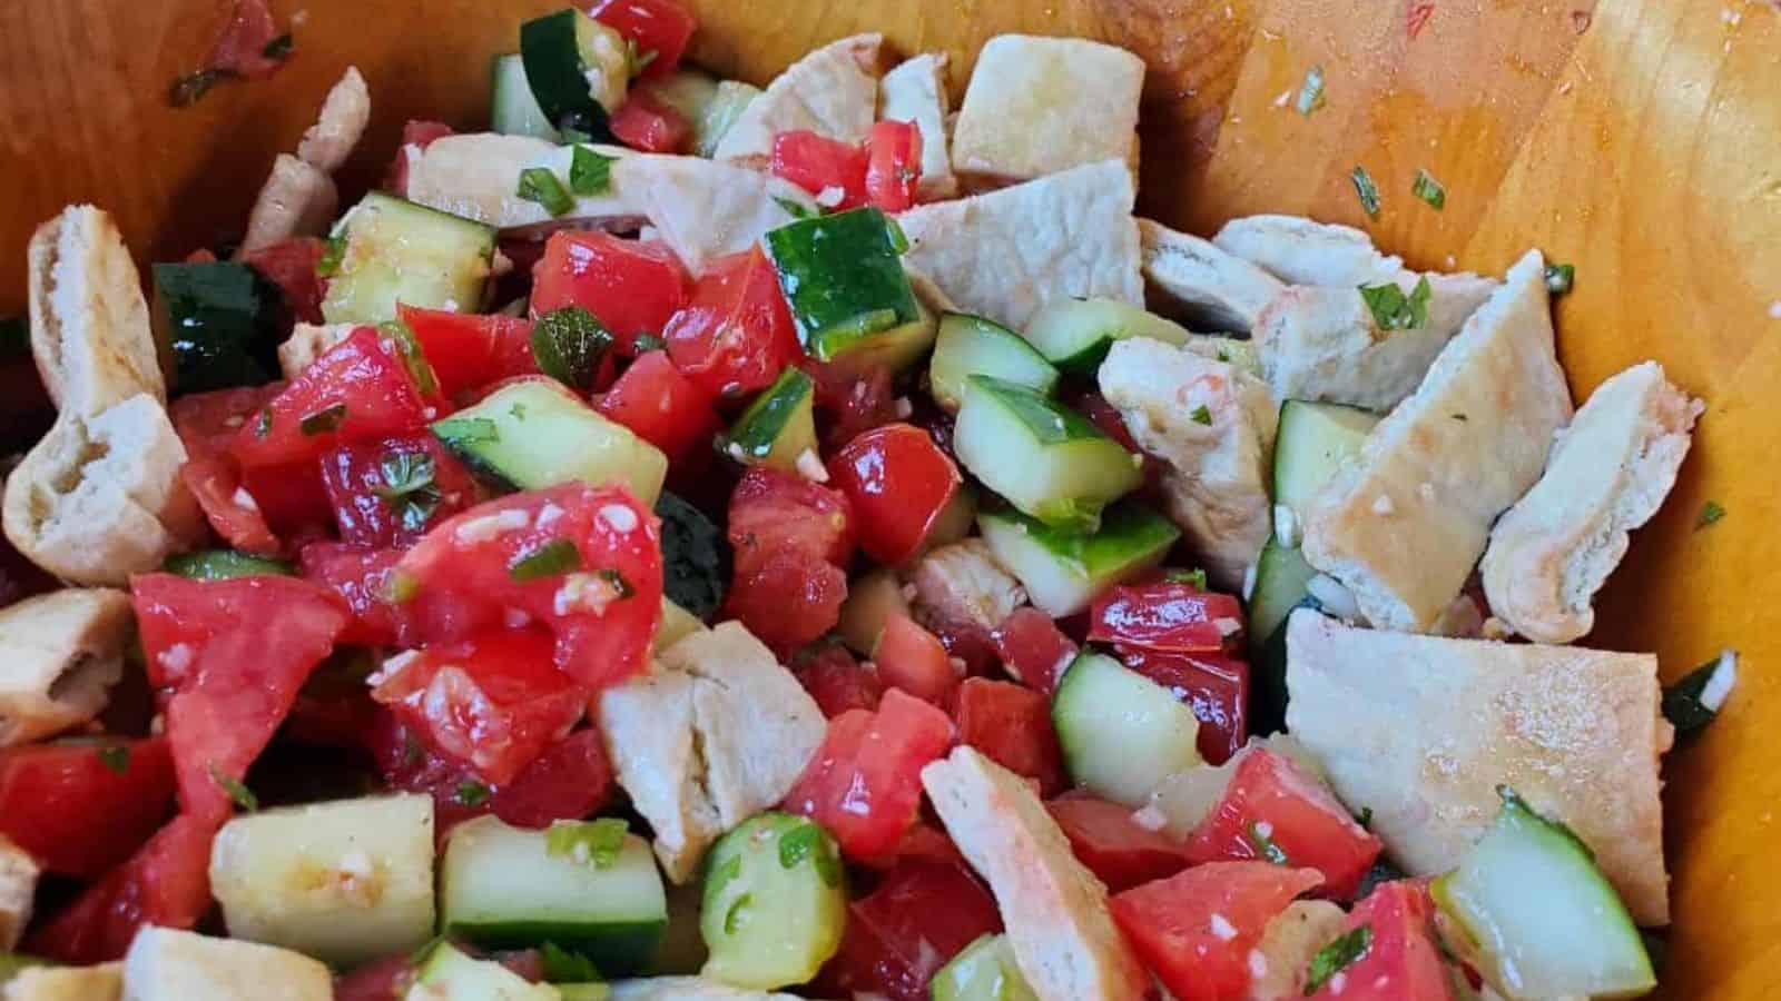
[[[175, 110], [223, 0], [0, 5], [0, 315], [23, 303], [32, 226], [110, 208], [144, 258], [239, 235], [272, 155], [353, 62], [372, 182], [408, 118], [486, 121], [488, 57], [550, 0], [274, 0], [296, 57]], [[1781, 5], [1776, 0], [777, 0], [696, 2], [696, 59], [764, 82], [814, 45], [883, 30], [953, 53], [953, 85], [999, 32], [1079, 34], [1151, 64], [1143, 210], [1209, 232], [1302, 212], [1370, 230], [1414, 267], [1501, 271], [1539, 246], [1576, 264], [1560, 354], [1582, 397], [1658, 358], [1708, 403], [1663, 513], [1603, 595], [1594, 645], [1656, 650], [1676, 677], [1744, 654], [1724, 718], [1667, 764], [1676, 924], [1665, 996], [1781, 992]], [[1325, 107], [1293, 98], [1311, 66]], [[1348, 173], [1364, 166], [1368, 219]], [[1418, 169], [1446, 185], [1435, 212]], [[16, 406], [16, 401], [7, 401]], [[1697, 529], [1703, 504], [1728, 511]], [[1777, 588], [1781, 590], [1781, 588]]]

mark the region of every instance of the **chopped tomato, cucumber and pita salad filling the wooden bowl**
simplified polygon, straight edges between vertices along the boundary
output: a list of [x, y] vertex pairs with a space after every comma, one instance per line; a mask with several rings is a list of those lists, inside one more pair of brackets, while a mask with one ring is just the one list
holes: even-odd
[[525, 21], [356, 201], [349, 68], [146, 276], [37, 230], [7, 1001], [1656, 987], [1736, 659], [1573, 645], [1703, 404], [1573, 404], [1569, 265], [1138, 219], [1110, 45], [990, 39], [953, 110], [695, 30]]

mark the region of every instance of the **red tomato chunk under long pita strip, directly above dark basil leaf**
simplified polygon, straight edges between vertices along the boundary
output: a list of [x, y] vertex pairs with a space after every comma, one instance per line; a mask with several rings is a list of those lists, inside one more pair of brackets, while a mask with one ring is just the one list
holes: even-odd
[[595, 315], [623, 356], [638, 353], [638, 335], [661, 337], [686, 305], [686, 271], [659, 242], [611, 233], [557, 230], [533, 267], [533, 317], [563, 306]]

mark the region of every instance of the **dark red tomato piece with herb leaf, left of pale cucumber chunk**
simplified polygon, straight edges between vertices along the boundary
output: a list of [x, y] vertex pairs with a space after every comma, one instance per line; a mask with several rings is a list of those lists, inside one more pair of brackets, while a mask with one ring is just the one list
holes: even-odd
[[[426, 520], [404, 518], [385, 497], [390, 488], [383, 465], [401, 456], [433, 467], [438, 502]], [[381, 442], [354, 442], [322, 454], [322, 486], [333, 506], [340, 540], [349, 545], [410, 545], [426, 529], [476, 502], [476, 481], [456, 456], [433, 435], [403, 435]]]

